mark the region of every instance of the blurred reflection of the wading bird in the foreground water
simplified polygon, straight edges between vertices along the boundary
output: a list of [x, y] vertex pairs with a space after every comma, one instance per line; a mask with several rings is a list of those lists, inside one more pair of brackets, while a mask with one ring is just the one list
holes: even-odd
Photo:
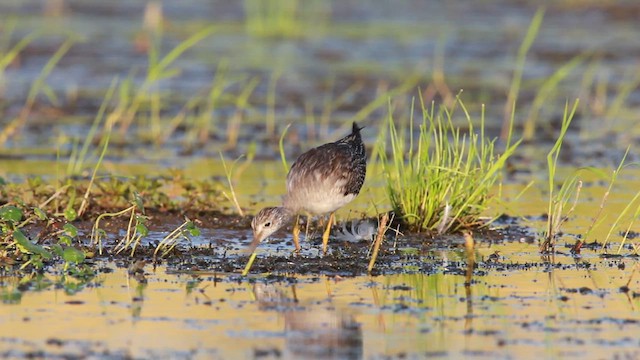
[[285, 324], [285, 359], [361, 359], [362, 328], [352, 314], [331, 303], [298, 302], [289, 288], [255, 284], [253, 293], [263, 311], [281, 314]]

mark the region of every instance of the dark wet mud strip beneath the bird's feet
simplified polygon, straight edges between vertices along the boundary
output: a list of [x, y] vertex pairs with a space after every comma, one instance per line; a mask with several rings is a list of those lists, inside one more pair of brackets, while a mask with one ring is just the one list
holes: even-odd
[[[192, 273], [239, 274], [248, 262], [245, 252], [251, 241], [251, 217], [240, 217], [217, 211], [158, 211], [147, 209], [149, 236], [142, 239], [133, 255], [130, 249], [119, 253], [115, 245], [125, 236], [129, 226], [129, 216], [107, 218], [100, 222], [100, 229], [107, 233], [102, 248], [91, 243], [91, 233], [95, 225], [93, 216], [73, 222], [78, 228], [81, 248], [91, 256], [89, 264], [101, 260], [114, 261], [118, 266], [133, 264], [167, 265], [172, 271]], [[182, 239], [178, 245], [164, 256], [156, 252], [162, 238], [176, 229], [185, 219], [193, 221], [202, 231], [191, 239]], [[365, 219], [376, 224], [375, 219]], [[56, 232], [62, 223], [34, 222], [23, 231], [41, 245], [51, 245], [56, 241]], [[350, 227], [351, 226], [351, 227]], [[302, 251], [294, 254], [290, 238], [291, 228], [277, 233], [274, 239], [265, 241], [258, 247], [258, 256], [251, 274], [272, 274], [274, 276], [330, 275], [354, 277], [367, 274], [370, 260], [372, 236], [349, 240], [339, 240], [340, 229], [353, 229], [352, 224], [339, 223], [329, 242], [329, 252], [321, 254], [319, 236], [311, 236], [302, 241]], [[374, 229], [375, 232], [375, 229]], [[320, 234], [320, 229], [311, 226], [310, 234]], [[533, 243], [535, 232], [518, 224], [517, 219], [502, 216], [491, 227], [474, 231], [474, 240], [479, 246], [491, 247], [505, 242]], [[82, 240], [84, 239], [84, 240]], [[444, 253], [449, 255], [443, 256]], [[544, 267], [540, 263], [512, 263], [498, 251], [490, 256], [478, 257], [475, 272], [481, 275], [487, 269], [509, 270]], [[16, 264], [19, 262], [16, 262]], [[52, 264], [55, 265], [55, 264]], [[403, 231], [399, 236], [389, 231], [382, 243], [375, 267], [371, 275], [397, 273], [450, 273], [465, 274], [467, 261], [464, 239], [459, 234], [432, 236]], [[135, 272], [135, 271], [134, 271]]]

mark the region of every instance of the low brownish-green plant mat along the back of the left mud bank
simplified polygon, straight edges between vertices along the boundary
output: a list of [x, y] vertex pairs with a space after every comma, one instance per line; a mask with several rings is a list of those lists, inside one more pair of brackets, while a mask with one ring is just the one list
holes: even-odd
[[13, 206], [19, 203], [21, 208], [29, 210], [29, 216], [23, 222], [30, 223], [38, 214], [46, 213], [71, 221], [70, 213], [76, 213], [73, 209], [81, 206], [90, 188], [83, 218], [128, 208], [136, 193], [144, 198], [145, 207], [158, 211], [221, 211], [224, 202], [224, 186], [221, 182], [193, 180], [185, 177], [181, 171], [153, 178], [96, 175], [93, 181], [91, 178], [70, 178], [65, 183], [56, 187], [39, 177], [29, 178], [24, 183], [7, 183], [0, 186], [0, 204]]

